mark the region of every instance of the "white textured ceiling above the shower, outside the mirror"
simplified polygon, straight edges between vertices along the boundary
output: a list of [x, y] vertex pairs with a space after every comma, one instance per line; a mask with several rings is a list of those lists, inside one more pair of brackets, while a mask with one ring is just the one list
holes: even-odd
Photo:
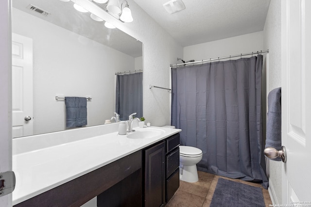
[[182, 46], [263, 30], [270, 0], [183, 0], [186, 9], [169, 14], [169, 0], [134, 0]]

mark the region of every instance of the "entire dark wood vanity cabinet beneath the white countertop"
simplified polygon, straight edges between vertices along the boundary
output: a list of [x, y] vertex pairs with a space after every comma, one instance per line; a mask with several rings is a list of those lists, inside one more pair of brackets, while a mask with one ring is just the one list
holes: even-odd
[[179, 187], [179, 133], [14, 207], [161, 207]]

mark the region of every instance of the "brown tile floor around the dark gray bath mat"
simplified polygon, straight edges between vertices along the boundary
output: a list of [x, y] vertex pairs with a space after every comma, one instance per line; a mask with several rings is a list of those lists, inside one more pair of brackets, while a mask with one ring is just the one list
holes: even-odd
[[[180, 181], [179, 189], [166, 207], [209, 207], [218, 178], [222, 176], [201, 171], [198, 171], [198, 175], [198, 182], [188, 183]], [[261, 188], [266, 207], [272, 204], [268, 190], [264, 189], [260, 184], [227, 177], [222, 178]]]

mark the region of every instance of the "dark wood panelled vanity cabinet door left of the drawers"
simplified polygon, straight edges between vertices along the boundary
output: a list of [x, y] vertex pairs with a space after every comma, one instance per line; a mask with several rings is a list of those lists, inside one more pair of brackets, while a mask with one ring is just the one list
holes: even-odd
[[145, 150], [145, 207], [161, 207], [165, 202], [165, 142]]

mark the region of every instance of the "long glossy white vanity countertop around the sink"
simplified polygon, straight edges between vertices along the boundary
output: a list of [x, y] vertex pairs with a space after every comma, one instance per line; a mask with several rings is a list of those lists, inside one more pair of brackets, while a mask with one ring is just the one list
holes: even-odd
[[[148, 128], [163, 129], [164, 134], [153, 138], [129, 139], [126, 135], [118, 135], [116, 131], [14, 154], [13, 171], [16, 175], [16, 187], [13, 191], [13, 205], [181, 131], [175, 128]], [[13, 142], [14, 144], [16, 143]]]

